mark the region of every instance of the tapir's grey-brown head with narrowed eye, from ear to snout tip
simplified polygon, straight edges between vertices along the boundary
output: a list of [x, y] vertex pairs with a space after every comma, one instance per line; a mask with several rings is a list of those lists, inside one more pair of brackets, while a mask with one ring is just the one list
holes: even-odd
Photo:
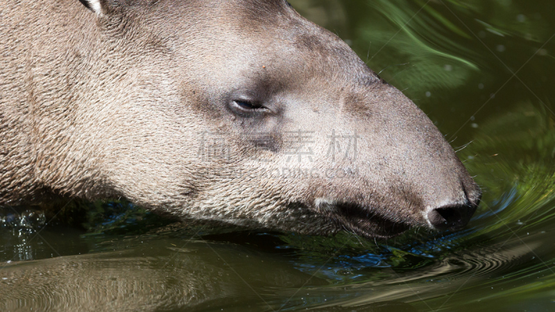
[[83, 2], [102, 47], [82, 110], [110, 196], [368, 237], [474, 213], [481, 191], [432, 121], [287, 1]]

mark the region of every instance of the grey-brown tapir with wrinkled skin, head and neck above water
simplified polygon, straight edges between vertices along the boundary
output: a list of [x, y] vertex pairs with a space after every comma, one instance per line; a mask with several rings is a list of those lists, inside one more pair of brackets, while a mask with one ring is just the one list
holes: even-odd
[[2, 1], [0, 205], [367, 237], [478, 205], [427, 116], [284, 0]]

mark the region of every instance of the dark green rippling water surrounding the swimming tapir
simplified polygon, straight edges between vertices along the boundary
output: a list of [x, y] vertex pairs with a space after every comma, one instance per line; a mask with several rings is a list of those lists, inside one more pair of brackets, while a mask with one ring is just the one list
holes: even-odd
[[555, 311], [555, 3], [291, 3], [459, 150], [484, 190], [468, 227], [375, 242], [184, 228], [125, 202], [46, 226], [3, 211], [0, 310]]

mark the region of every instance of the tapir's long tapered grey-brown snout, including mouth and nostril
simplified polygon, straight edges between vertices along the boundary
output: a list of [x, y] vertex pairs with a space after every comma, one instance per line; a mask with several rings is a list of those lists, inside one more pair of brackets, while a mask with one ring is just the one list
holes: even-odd
[[394, 236], [411, 226], [464, 227], [481, 191], [432, 121], [382, 81], [349, 89], [343, 98], [325, 111], [339, 106], [334, 119], [357, 134], [357, 154], [334, 159], [330, 166], [356, 175], [314, 182], [316, 211], [374, 237]]

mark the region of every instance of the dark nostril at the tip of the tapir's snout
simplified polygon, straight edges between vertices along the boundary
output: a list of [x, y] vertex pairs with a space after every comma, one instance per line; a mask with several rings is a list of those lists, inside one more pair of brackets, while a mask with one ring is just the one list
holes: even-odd
[[456, 230], [464, 227], [475, 211], [475, 205], [444, 206], [430, 210], [428, 220], [436, 229]]

